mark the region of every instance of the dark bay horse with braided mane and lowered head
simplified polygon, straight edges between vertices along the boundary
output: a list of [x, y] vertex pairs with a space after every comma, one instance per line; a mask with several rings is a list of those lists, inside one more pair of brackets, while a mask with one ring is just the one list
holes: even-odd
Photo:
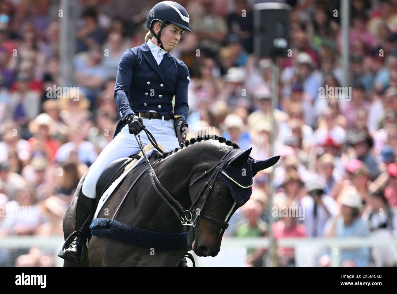
[[[197, 139], [191, 139], [190, 142], [185, 141], [185, 146], [166, 153], [163, 159], [153, 166], [158, 180], [183, 207], [191, 205], [192, 200], [202, 190], [209, 176], [200, 178], [194, 184], [192, 184], [192, 180], [216, 166], [217, 162], [230, 150], [241, 151], [236, 152], [239, 153], [239, 156], [234, 158], [236, 169], [251, 160], [249, 166], [252, 168], [252, 176], [259, 170], [274, 165], [279, 159], [277, 156], [263, 161], [254, 161], [249, 157], [251, 149], [244, 151], [239, 149], [235, 143], [218, 136], [211, 139], [208, 137], [201, 138], [202, 140]], [[80, 188], [83, 178], [77, 189]], [[133, 180], [129, 176], [125, 177], [100, 210], [98, 218], [111, 219], [113, 217]], [[210, 190], [205, 207], [203, 207], [203, 212], [206, 215], [228, 221], [241, 206], [241, 204], [236, 205], [235, 195], [232, 195], [229, 189], [230, 185], [235, 184], [227, 183], [220, 178], [214, 180], [212, 190]], [[76, 195], [64, 217], [65, 237], [74, 231], [75, 198]], [[201, 203], [203, 203], [203, 199], [199, 199], [196, 207], [201, 207]], [[181, 221], [175, 217], [170, 207], [154, 190], [148, 172], [145, 172], [132, 187], [119, 209], [116, 219], [130, 226], [156, 232], [178, 233], [184, 230]], [[223, 233], [224, 230], [213, 222], [199, 217], [194, 228], [189, 226], [187, 245], [198, 256], [216, 256], [220, 251]], [[186, 250], [162, 251], [156, 248], [148, 250], [118, 240], [93, 236], [80, 266], [177, 266], [185, 252]], [[76, 265], [64, 261], [64, 266]]]

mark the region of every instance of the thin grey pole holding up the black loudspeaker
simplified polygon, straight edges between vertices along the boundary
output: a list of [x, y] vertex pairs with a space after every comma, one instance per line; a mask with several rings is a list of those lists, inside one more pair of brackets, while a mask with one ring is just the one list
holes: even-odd
[[[276, 62], [276, 58], [273, 58], [272, 64], [272, 108], [270, 115], [270, 123], [272, 124], [272, 132], [270, 133], [270, 146], [269, 146], [269, 156], [274, 156], [274, 140], [276, 138], [276, 120], [274, 118], [274, 110], [277, 107], [278, 101], [278, 65]], [[268, 195], [268, 215], [269, 215], [269, 238], [270, 238], [270, 247], [269, 247], [269, 258], [268, 265], [271, 267], [276, 267], [278, 265], [277, 262], [277, 244], [276, 239], [273, 234], [273, 194], [274, 194], [274, 166], [272, 167], [272, 172], [270, 173], [269, 178], [269, 195]]]

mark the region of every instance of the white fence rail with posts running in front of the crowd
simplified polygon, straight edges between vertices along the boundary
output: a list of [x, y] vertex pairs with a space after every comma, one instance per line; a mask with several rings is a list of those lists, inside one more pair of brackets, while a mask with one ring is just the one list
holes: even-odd
[[[31, 248], [53, 249], [54, 255], [62, 247], [64, 239], [61, 236], [40, 237], [40, 236], [8, 236], [0, 238], [2, 248]], [[197, 257], [197, 266], [244, 266], [245, 252], [247, 248], [268, 248], [268, 238], [235, 238], [225, 237], [222, 240], [220, 253], [216, 257]], [[397, 246], [397, 238], [382, 240], [379, 238], [283, 238], [278, 240], [278, 246], [295, 248], [295, 255], [298, 265], [305, 264], [305, 256], [308, 257], [316, 248], [329, 248], [331, 254], [331, 266], [340, 265], [340, 255], [332, 254], [340, 252], [340, 249], [376, 247], [376, 246]], [[307, 255], [308, 254], [308, 255]], [[298, 257], [298, 256], [297, 256]], [[63, 265], [63, 259], [56, 256], [56, 266]], [[189, 263], [188, 263], [189, 264]]]

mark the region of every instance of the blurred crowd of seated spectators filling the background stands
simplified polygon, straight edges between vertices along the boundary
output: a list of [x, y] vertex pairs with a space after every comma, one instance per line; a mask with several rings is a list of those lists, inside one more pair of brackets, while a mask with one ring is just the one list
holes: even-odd
[[[60, 43], [60, 1], [0, 0], [0, 238], [63, 235], [77, 184], [119, 120], [119, 60], [127, 48], [143, 44], [147, 14], [159, 1], [75, 2], [70, 62], [78, 101], [49, 93], [54, 85], [69, 86], [60, 78], [60, 46], [68, 45]], [[351, 87], [343, 93], [328, 92], [345, 85], [340, 1], [281, 2], [293, 8], [292, 53], [277, 60], [273, 126], [272, 62], [254, 55], [255, 1], [178, 1], [193, 31], [171, 52], [190, 71], [190, 134], [222, 135], [252, 147], [258, 160], [272, 156], [274, 132], [274, 154], [281, 155], [274, 168], [255, 176], [251, 199], [233, 215], [225, 236], [268, 236], [274, 217], [276, 239], [395, 238], [397, 0], [350, 1]], [[267, 205], [272, 171], [276, 210]], [[30, 207], [29, 218], [16, 213], [21, 207]], [[280, 213], [285, 207], [296, 207], [297, 215]], [[307, 265], [330, 265], [329, 248], [310, 250], [309, 258], [280, 246], [278, 264], [297, 265], [299, 254], [310, 259]], [[53, 256], [39, 248], [0, 247], [0, 266], [54, 265]], [[264, 266], [267, 256], [250, 248], [247, 265]], [[345, 249], [340, 258], [343, 266], [396, 266], [397, 248]]]

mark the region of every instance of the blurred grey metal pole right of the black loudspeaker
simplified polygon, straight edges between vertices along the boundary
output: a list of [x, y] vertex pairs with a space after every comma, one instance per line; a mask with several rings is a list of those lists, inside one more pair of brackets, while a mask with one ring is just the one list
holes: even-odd
[[344, 87], [350, 87], [350, 57], [349, 57], [349, 18], [350, 1], [341, 0], [341, 27], [342, 27], [342, 66]]

